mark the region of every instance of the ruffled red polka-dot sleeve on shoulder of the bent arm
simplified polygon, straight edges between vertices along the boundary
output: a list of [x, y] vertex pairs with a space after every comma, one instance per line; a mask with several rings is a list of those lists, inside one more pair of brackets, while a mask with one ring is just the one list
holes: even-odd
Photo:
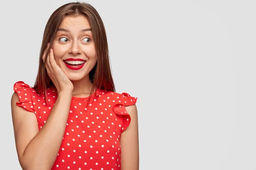
[[20, 99], [19, 102], [16, 102], [16, 105], [35, 113], [31, 99], [31, 89], [32, 88], [28, 84], [25, 84], [21, 81], [16, 82], [13, 86], [13, 90], [18, 94], [18, 97]]

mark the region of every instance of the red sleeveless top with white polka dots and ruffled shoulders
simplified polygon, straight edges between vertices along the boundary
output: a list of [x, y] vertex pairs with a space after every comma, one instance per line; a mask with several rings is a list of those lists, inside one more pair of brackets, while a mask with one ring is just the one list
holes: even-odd
[[[57, 99], [55, 88], [38, 94], [24, 82], [16, 82], [16, 104], [36, 115], [39, 130], [44, 126]], [[125, 106], [136, 103], [128, 93], [97, 90], [97, 95], [72, 97], [58, 156], [52, 170], [121, 170], [120, 136], [130, 124]]]

